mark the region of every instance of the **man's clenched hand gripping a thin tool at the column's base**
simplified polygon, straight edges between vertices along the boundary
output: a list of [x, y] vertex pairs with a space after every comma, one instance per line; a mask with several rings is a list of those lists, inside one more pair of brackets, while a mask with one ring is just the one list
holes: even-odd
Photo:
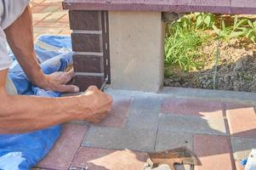
[[[101, 92], [95, 86], [89, 87], [85, 94], [77, 96], [76, 98], [78, 102], [77, 108], [82, 113], [82, 120], [88, 122], [100, 122], [107, 115], [108, 111], [111, 110], [113, 101], [110, 95]], [[85, 99], [89, 99], [89, 101]], [[83, 108], [83, 102], [88, 102], [89, 113], [85, 114], [84, 111], [88, 109], [88, 107]]]

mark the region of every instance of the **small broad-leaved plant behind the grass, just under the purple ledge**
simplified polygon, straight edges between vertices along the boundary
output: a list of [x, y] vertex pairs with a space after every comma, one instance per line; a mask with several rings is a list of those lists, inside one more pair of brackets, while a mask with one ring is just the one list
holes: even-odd
[[196, 13], [196, 27], [204, 30], [212, 28], [216, 21], [214, 14]]

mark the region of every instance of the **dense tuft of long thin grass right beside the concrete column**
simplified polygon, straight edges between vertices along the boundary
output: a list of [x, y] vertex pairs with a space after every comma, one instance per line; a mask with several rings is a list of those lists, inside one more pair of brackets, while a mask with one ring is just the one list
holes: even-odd
[[174, 23], [169, 27], [169, 34], [165, 39], [165, 65], [179, 65], [183, 71], [202, 68], [202, 62], [196, 62], [195, 59], [200, 56], [197, 49], [204, 39], [187, 24], [183, 25], [180, 21]]

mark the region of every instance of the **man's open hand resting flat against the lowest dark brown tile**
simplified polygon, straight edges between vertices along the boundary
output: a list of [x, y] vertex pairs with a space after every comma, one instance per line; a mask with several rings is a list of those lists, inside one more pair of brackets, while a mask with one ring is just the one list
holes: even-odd
[[70, 82], [75, 76], [73, 70], [69, 72], [54, 72], [50, 75], [45, 75], [43, 81], [38, 82], [37, 86], [46, 90], [53, 90], [61, 93], [77, 93], [79, 88], [75, 85], [65, 85]]

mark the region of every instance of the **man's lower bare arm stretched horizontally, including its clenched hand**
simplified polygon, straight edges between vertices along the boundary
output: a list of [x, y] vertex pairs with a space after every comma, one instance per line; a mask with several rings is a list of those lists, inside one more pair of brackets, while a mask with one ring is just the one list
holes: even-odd
[[8, 70], [0, 71], [0, 133], [26, 133], [71, 120], [100, 122], [112, 99], [98, 88], [66, 98], [11, 96], [5, 91]]

